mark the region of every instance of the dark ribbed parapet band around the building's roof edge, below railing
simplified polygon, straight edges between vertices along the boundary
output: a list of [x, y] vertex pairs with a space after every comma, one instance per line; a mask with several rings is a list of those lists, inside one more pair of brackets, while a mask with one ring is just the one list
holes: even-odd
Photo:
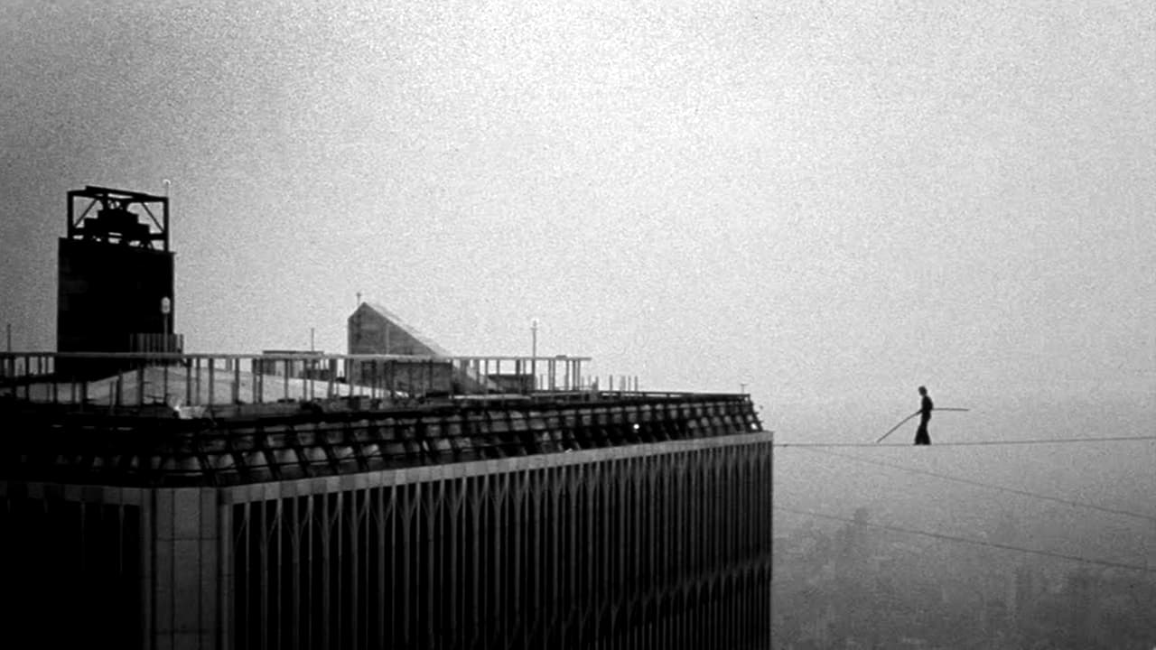
[[228, 420], [60, 413], [0, 441], [0, 479], [224, 486], [761, 431], [746, 396], [585, 396]]

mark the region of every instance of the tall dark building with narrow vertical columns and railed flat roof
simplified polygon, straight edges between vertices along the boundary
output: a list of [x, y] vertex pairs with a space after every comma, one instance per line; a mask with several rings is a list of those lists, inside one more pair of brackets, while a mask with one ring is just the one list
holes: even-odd
[[[127, 223], [123, 242], [82, 243], [144, 250]], [[94, 290], [117, 286], [69, 268]], [[125, 331], [153, 326], [144, 311]], [[127, 370], [116, 356], [0, 353], [6, 637], [769, 647], [772, 434], [749, 396], [566, 390], [578, 356], [539, 368], [544, 389], [495, 393], [491, 363], [536, 360], [395, 352], [142, 356]], [[60, 361], [76, 374], [44, 371]], [[402, 382], [407, 361], [454, 381], [444, 394], [432, 376]], [[353, 378], [309, 371], [362, 362]]]

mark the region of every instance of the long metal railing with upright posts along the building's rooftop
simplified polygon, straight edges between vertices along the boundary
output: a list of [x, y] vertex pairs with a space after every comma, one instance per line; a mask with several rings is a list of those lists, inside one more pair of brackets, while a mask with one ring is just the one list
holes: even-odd
[[581, 356], [387, 354], [0, 353], [0, 400], [195, 409], [321, 400], [403, 404], [437, 398], [638, 390], [594, 379]]

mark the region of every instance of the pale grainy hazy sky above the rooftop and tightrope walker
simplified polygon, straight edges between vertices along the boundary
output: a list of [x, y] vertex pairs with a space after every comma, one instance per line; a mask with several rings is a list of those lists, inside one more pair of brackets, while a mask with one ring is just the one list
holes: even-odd
[[1156, 416], [1150, 1], [7, 0], [0, 43], [21, 349], [65, 193], [170, 178], [195, 352], [346, 352], [361, 291], [785, 433], [870, 440], [919, 384]]

